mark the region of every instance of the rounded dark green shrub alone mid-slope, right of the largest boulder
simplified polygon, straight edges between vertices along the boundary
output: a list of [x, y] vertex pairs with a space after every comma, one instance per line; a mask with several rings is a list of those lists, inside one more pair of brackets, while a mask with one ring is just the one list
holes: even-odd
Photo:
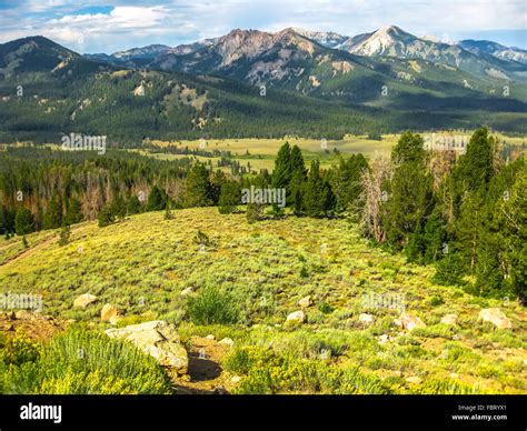
[[203, 288], [187, 304], [190, 320], [196, 324], [231, 324], [240, 320], [240, 310], [233, 298], [211, 287]]

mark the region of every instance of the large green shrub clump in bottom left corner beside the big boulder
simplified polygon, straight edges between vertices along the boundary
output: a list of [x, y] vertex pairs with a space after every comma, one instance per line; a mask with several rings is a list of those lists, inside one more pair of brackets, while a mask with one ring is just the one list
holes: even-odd
[[24, 350], [31, 352], [24, 357], [29, 360], [9, 365], [3, 361], [3, 369], [0, 370], [2, 393], [131, 394], [171, 391], [169, 378], [153, 358], [132, 344], [101, 333], [70, 329], [53, 337], [37, 359], [34, 348], [29, 347], [27, 340], [23, 343]]

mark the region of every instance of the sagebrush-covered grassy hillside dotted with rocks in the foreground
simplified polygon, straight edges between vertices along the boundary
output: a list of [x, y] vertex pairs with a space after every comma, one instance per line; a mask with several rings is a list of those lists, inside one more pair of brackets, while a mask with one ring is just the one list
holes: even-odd
[[[103, 303], [120, 310], [120, 325], [152, 319], [178, 324], [185, 342], [213, 334], [235, 341], [222, 372], [240, 377], [239, 393], [525, 393], [526, 312], [513, 300], [487, 300], [436, 285], [432, 268], [372, 248], [347, 220], [288, 217], [248, 224], [243, 213], [216, 208], [145, 213], [99, 228], [0, 241], [4, 292], [43, 295], [43, 310], [89, 322], [100, 331]], [[207, 245], [195, 239], [201, 231]], [[193, 293], [182, 295], [187, 288]], [[73, 309], [82, 293], [99, 297]], [[217, 295], [211, 292], [219, 292]], [[400, 310], [368, 305], [365, 294], [404, 297], [406, 312], [426, 328], [394, 324]], [[285, 324], [311, 297], [304, 324]], [[200, 309], [216, 321], [203, 322]], [[497, 307], [513, 322], [498, 330], [477, 320]], [[229, 313], [226, 313], [229, 310]], [[236, 312], [235, 312], [236, 311]], [[359, 321], [374, 315], [372, 324]], [[458, 315], [456, 325], [440, 323]], [[266, 367], [262, 367], [266, 364]]]

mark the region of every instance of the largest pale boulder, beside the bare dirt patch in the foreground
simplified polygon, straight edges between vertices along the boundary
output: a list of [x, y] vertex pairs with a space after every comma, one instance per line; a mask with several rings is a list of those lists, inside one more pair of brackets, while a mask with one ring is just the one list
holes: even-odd
[[152, 320], [120, 329], [109, 329], [106, 334], [130, 341], [156, 358], [161, 365], [173, 369], [178, 374], [186, 374], [188, 371], [187, 350], [181, 345], [178, 331], [171, 323]]

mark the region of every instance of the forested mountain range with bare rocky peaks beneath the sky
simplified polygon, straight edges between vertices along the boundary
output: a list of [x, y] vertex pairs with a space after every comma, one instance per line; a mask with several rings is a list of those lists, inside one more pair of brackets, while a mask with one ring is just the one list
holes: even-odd
[[[355, 37], [235, 29], [173, 48], [84, 56], [31, 37], [0, 44], [0, 138], [72, 129], [135, 141], [312, 137], [481, 124], [525, 132], [526, 53], [490, 41], [441, 43], [395, 26]], [[17, 84], [32, 99], [13, 97]]]

